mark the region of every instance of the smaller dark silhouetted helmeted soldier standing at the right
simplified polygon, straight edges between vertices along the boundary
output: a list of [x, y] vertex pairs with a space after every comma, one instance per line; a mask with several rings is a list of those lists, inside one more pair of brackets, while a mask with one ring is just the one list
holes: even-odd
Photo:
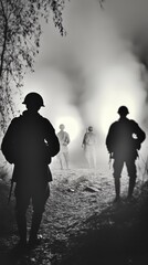
[[129, 112], [126, 106], [120, 106], [118, 114], [119, 119], [110, 125], [106, 138], [108, 152], [110, 153], [110, 158], [114, 159], [115, 201], [120, 199], [120, 173], [124, 162], [126, 163], [129, 176], [128, 199], [133, 195], [137, 177], [135, 161], [138, 157], [141, 142], [146, 138], [146, 134], [138, 124], [127, 118]]

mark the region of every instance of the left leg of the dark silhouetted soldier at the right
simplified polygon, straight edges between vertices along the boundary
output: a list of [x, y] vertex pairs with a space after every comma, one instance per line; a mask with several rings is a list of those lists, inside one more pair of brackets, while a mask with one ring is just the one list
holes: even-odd
[[116, 198], [115, 200], [119, 200], [120, 198], [120, 173], [121, 173], [121, 170], [123, 170], [123, 167], [124, 167], [124, 160], [121, 159], [115, 159], [114, 160], [114, 165], [113, 165], [113, 168], [114, 168], [114, 181], [115, 181], [115, 192], [116, 192]]

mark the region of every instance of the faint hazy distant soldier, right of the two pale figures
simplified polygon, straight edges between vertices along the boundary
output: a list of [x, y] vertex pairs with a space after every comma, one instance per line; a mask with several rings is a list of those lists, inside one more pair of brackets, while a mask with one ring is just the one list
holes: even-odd
[[93, 127], [88, 126], [82, 142], [88, 168], [96, 168], [96, 135], [93, 131]]

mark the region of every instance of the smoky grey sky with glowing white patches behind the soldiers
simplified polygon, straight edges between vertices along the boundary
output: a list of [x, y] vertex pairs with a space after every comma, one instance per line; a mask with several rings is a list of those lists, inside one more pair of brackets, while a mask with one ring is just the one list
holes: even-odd
[[117, 109], [147, 125], [148, 1], [71, 0], [64, 10], [66, 36], [53, 22], [43, 25], [35, 73], [24, 80], [24, 95], [39, 92], [41, 113], [57, 130], [63, 123], [72, 146], [93, 125], [104, 141]]

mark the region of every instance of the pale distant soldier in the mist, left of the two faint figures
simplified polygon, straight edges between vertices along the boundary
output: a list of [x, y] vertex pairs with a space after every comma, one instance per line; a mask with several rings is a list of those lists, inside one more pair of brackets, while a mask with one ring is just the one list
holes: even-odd
[[68, 147], [67, 145], [70, 144], [70, 136], [64, 130], [65, 126], [63, 124], [60, 125], [60, 131], [57, 132], [57, 138], [60, 141], [60, 152], [57, 155], [57, 158], [60, 160], [60, 166], [61, 169], [68, 169]]

